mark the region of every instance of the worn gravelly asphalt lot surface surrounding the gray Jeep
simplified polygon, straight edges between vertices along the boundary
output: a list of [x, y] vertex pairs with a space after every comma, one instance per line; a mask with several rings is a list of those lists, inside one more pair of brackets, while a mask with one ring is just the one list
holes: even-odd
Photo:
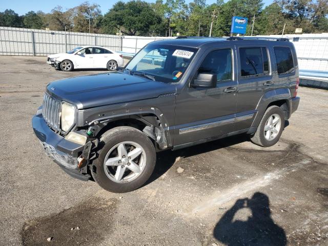
[[328, 245], [328, 91], [299, 88], [273, 147], [235, 136], [162, 152], [145, 187], [112, 194], [65, 174], [31, 127], [47, 83], [99, 71], [0, 64], [0, 245]]

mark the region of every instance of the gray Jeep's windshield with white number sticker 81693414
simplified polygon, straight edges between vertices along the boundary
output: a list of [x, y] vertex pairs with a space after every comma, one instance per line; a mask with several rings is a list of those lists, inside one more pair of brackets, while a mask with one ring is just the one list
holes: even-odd
[[178, 82], [197, 49], [172, 45], [149, 45], [136, 54], [125, 72], [151, 75], [156, 81]]

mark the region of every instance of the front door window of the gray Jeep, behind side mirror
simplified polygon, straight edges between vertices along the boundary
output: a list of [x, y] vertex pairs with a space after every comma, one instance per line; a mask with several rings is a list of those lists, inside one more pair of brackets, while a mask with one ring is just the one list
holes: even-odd
[[214, 73], [217, 81], [231, 79], [232, 58], [231, 49], [211, 51], [202, 61], [198, 72]]

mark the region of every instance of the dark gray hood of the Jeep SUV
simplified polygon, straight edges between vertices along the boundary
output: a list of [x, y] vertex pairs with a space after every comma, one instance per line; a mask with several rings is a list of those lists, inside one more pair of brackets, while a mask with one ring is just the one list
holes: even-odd
[[156, 98], [175, 90], [175, 85], [119, 72], [76, 76], [47, 86], [49, 94], [78, 109]]

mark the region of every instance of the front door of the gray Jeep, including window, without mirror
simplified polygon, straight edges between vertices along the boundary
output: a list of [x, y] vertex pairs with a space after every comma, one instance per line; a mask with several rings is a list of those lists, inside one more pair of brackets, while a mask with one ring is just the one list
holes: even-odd
[[215, 88], [186, 85], [176, 96], [174, 145], [233, 131], [238, 90], [233, 54], [231, 48], [211, 50], [198, 67], [194, 78], [201, 72], [216, 74]]

